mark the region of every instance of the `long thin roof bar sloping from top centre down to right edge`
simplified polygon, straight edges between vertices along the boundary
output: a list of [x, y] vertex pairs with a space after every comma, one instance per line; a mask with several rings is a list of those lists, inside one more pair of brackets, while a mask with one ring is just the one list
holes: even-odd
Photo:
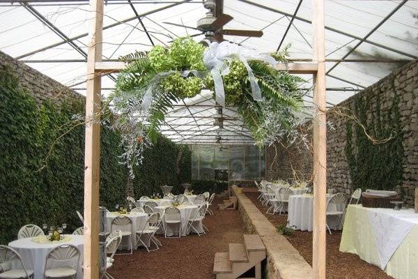
[[[291, 17], [292, 16], [290, 13], [286, 13], [286, 12], [283, 12], [281, 10], [277, 10], [275, 8], [270, 8], [268, 6], [264, 6], [264, 5], [260, 4], [260, 3], [255, 3], [253, 1], [249, 1], [249, 0], [237, 0], [237, 1], [240, 1], [240, 2], [243, 2], [243, 3], [247, 3], [249, 5], [256, 6], [258, 8], [263, 8], [265, 10], [270, 10], [270, 12], [273, 12], [273, 13], [279, 13], [281, 15], [287, 15], [288, 17]], [[295, 16], [295, 20], [299, 20], [301, 22], [306, 22], [306, 23], [312, 24], [311, 20], [307, 20], [306, 18], [303, 18], [303, 17]], [[355, 36], [353, 34], [350, 34], [350, 33], [344, 32], [344, 31], [341, 31], [339, 29], [335, 29], [333, 27], [328, 27], [326, 25], [325, 25], [325, 29], [330, 30], [330, 31], [333, 31], [333, 32], [336, 32], [336, 33], [339, 33], [339, 34], [344, 35], [344, 36], [348, 36], [350, 38], [355, 38], [357, 40], [362, 40], [363, 39], [362, 37]], [[407, 57], [410, 57], [412, 59], [417, 59], [418, 58], [418, 56], [415, 56], [415, 55], [410, 54], [408, 52], [403, 52], [401, 50], [396, 50], [396, 49], [394, 49], [392, 47], [388, 47], [387, 45], [382, 45], [380, 43], [376, 43], [376, 42], [373, 42], [371, 40], [364, 40], [364, 43], [369, 43], [371, 45], [375, 45], [376, 47], [381, 47], [382, 49], [389, 50], [391, 52], [396, 52], [397, 54], [401, 54], [403, 56], [407, 56]]]

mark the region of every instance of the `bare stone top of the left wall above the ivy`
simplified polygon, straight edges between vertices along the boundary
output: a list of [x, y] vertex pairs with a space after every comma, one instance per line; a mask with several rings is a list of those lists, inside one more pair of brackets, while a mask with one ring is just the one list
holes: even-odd
[[37, 103], [42, 103], [42, 101], [47, 99], [56, 100], [59, 103], [68, 97], [84, 98], [76, 91], [69, 89], [51, 77], [13, 59], [13, 57], [3, 52], [0, 52], [1, 66], [8, 66], [19, 77], [22, 87], [28, 93], [31, 93]]

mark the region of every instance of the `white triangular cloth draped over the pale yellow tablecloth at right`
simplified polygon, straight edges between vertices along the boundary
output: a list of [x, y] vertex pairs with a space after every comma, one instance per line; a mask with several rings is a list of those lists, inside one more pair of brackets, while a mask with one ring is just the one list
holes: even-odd
[[407, 236], [414, 223], [403, 211], [369, 210], [367, 212], [369, 222], [373, 228], [375, 245], [380, 259], [380, 268], [385, 270], [389, 259], [392, 257], [405, 236]]

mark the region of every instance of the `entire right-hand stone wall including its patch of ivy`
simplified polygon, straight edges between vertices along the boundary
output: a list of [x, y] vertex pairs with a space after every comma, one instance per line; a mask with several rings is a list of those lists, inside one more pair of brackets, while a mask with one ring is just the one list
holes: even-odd
[[[327, 187], [352, 193], [355, 188], [396, 189], [414, 204], [418, 187], [418, 61], [383, 78], [338, 105], [350, 109], [371, 137], [392, 140], [373, 144], [362, 127], [346, 116], [327, 112]], [[277, 152], [276, 152], [277, 149]], [[274, 162], [274, 157], [277, 161]], [[269, 179], [290, 178], [291, 167], [311, 176], [311, 151], [303, 146], [270, 146]]]

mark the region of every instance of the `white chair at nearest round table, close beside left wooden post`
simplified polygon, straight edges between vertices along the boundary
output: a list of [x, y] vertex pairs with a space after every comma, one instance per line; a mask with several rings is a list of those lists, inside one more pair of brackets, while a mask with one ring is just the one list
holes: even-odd
[[[80, 260], [80, 251], [78, 248], [71, 244], [63, 244], [52, 248], [47, 254], [45, 261], [45, 269], [59, 269], [68, 267], [78, 271]], [[47, 278], [44, 274], [44, 277]]]

